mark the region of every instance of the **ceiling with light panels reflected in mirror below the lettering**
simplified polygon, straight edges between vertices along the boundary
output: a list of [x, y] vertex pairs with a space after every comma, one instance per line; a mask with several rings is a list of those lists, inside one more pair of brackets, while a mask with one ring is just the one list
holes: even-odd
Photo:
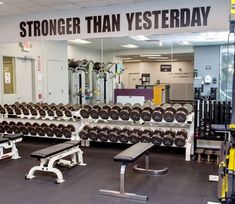
[[[145, 36], [148, 40], [134, 40], [130, 36], [88, 39], [89, 44], [79, 44], [87, 48], [104, 51], [127, 50], [122, 45], [132, 44], [138, 49], [174, 49], [175, 47], [193, 47], [202, 45], [226, 44], [228, 32], [207, 32], [207, 33], [178, 33], [173, 35], [151, 35]], [[69, 42], [76, 44], [73, 42]], [[133, 49], [133, 48], [132, 48]]]

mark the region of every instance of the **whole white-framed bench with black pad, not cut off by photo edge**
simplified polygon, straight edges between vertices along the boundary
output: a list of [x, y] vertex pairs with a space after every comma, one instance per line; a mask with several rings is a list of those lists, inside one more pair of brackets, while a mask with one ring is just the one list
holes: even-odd
[[[67, 141], [31, 153], [31, 157], [40, 160], [40, 165], [32, 167], [25, 178], [34, 178], [34, 173], [36, 171], [52, 172], [57, 176], [56, 183], [63, 183], [64, 179], [62, 172], [55, 167], [55, 164], [69, 168], [77, 164], [81, 166], [86, 165], [83, 163], [83, 152], [78, 146], [79, 143], [80, 141], [76, 140]], [[71, 156], [71, 160], [62, 159], [67, 156]]]

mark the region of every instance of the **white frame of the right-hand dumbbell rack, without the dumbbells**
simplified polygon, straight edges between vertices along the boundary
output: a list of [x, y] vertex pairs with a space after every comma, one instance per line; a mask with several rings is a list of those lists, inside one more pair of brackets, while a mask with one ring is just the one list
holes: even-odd
[[[193, 140], [193, 136], [194, 136], [194, 113], [190, 113], [187, 117], [187, 121], [185, 123], [178, 123], [176, 121], [173, 122], [166, 122], [166, 121], [162, 121], [162, 122], [155, 122], [153, 120], [151, 121], [133, 121], [131, 119], [129, 120], [111, 120], [111, 119], [107, 119], [107, 120], [103, 120], [102, 118], [98, 118], [98, 119], [92, 119], [91, 117], [84, 119], [81, 119], [81, 128], [82, 129], [85, 125], [90, 125], [90, 126], [100, 126], [105, 127], [105, 126], [109, 126], [110, 128], [113, 127], [120, 127], [120, 128], [124, 128], [124, 127], [129, 127], [131, 129], [133, 128], [140, 128], [142, 130], [144, 129], [162, 129], [162, 130], [168, 130], [168, 129], [174, 129], [174, 130], [180, 130], [180, 129], [185, 129], [187, 131], [187, 135], [188, 138], [186, 139], [186, 144], [184, 147], [185, 148], [185, 160], [186, 161], [190, 161], [191, 159], [191, 154], [194, 153], [194, 140]], [[82, 145], [83, 146], [89, 146], [90, 144], [90, 139], [88, 140], [84, 140], [82, 141]], [[97, 140], [97, 142], [101, 142], [99, 140]], [[108, 142], [110, 142], [108, 140]], [[117, 143], [120, 143], [119, 141]], [[130, 142], [128, 142], [129, 144], [131, 144]], [[163, 144], [161, 144], [161, 146], [164, 146]], [[175, 144], [173, 144], [173, 146], [171, 147], [176, 147]]]

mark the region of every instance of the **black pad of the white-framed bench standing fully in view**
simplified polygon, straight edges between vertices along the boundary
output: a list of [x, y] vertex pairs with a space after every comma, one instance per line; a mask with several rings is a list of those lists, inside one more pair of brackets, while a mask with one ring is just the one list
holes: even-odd
[[79, 141], [68, 141], [61, 144], [53, 145], [50, 147], [46, 147], [44, 149], [40, 149], [38, 151], [32, 152], [31, 157], [37, 158], [37, 159], [44, 159], [46, 157], [49, 157], [53, 154], [57, 154], [59, 152], [65, 151], [67, 149], [70, 149], [74, 146], [77, 146]]

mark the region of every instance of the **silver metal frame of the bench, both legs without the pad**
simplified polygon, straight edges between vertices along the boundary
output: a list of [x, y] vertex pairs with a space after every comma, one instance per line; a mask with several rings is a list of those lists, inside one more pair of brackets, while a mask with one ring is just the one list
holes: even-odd
[[[122, 162], [121, 169], [120, 169], [120, 190], [119, 191], [113, 191], [113, 190], [104, 190], [100, 189], [99, 194], [106, 195], [106, 196], [113, 196], [113, 197], [119, 197], [119, 198], [127, 198], [127, 199], [133, 199], [133, 200], [139, 200], [139, 201], [147, 201], [148, 196], [145, 195], [138, 195], [135, 193], [127, 193], [125, 192], [125, 171], [126, 167], [129, 162]], [[145, 168], [138, 167], [138, 164], [136, 164], [133, 167], [134, 171], [139, 173], [145, 173], [149, 175], [163, 175], [168, 172], [168, 168], [160, 169], [160, 170], [153, 170], [149, 168], [149, 151], [145, 152]]]

